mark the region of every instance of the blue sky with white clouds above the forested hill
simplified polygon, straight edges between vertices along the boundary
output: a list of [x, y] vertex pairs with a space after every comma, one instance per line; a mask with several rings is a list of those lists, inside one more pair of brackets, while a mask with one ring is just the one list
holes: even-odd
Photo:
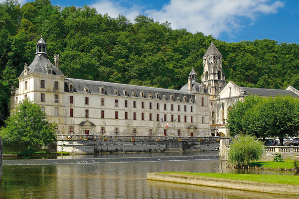
[[[3, 1], [3, 0], [0, 0]], [[28, 0], [19, 0], [24, 3]], [[227, 42], [274, 39], [299, 43], [299, 0], [51, 0], [53, 5], [89, 4], [101, 14], [139, 15], [213, 35]]]

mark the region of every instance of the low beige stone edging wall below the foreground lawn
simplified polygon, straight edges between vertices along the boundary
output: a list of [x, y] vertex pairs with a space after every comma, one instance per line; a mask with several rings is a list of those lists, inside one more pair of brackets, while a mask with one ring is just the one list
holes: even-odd
[[296, 195], [299, 196], [299, 186], [296, 185], [281, 185], [258, 183], [252, 181], [229, 180], [220, 178], [206, 178], [200, 176], [190, 176], [183, 174], [159, 174], [148, 173], [148, 180], [164, 181], [172, 183], [182, 183], [189, 185], [200, 185], [207, 187], [226, 188], [244, 191], [253, 191], [261, 193], [275, 193], [281, 195]]

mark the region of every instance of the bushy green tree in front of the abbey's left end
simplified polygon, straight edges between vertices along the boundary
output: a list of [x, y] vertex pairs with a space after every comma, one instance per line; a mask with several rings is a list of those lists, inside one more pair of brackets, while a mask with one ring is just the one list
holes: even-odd
[[16, 105], [1, 128], [3, 146], [14, 150], [32, 150], [55, 141], [56, 124], [49, 122], [45, 112], [36, 103], [23, 100]]

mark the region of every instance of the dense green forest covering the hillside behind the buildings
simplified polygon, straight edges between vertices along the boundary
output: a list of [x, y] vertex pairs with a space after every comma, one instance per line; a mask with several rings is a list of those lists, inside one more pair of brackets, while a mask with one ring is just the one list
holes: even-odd
[[180, 89], [192, 67], [203, 73], [202, 57], [213, 41], [223, 55], [227, 81], [243, 87], [299, 89], [296, 43], [227, 43], [170, 25], [143, 15], [134, 21], [123, 15], [112, 18], [88, 5], [0, 3], [0, 115], [9, 115], [11, 85], [18, 87], [17, 77], [24, 64], [32, 62], [41, 35], [52, 63], [53, 55], [60, 54], [59, 68], [70, 78]]

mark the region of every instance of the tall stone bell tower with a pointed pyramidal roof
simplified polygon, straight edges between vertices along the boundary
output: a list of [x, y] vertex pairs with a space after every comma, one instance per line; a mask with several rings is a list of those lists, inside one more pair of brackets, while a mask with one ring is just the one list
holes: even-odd
[[213, 42], [203, 56], [203, 75], [201, 76], [201, 83], [207, 88], [211, 100], [215, 100], [217, 94], [226, 84], [222, 69], [222, 54]]

